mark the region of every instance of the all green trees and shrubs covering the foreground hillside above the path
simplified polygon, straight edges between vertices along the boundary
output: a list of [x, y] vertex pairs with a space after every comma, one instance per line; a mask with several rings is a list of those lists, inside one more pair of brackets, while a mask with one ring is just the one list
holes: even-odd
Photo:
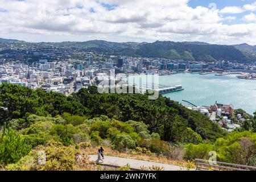
[[0, 119], [5, 170], [98, 170], [86, 155], [98, 146], [156, 161], [207, 159], [215, 150], [218, 160], [255, 164], [256, 113], [226, 136], [203, 114], [165, 97], [98, 94], [94, 86], [66, 97], [2, 84]]

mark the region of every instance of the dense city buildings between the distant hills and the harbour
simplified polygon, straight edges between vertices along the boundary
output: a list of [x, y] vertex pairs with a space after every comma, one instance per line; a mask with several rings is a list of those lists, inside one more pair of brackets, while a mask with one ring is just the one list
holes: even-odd
[[[52, 51], [55, 50], [55, 51]], [[0, 54], [0, 84], [2, 82], [42, 88], [69, 95], [94, 84], [93, 78], [117, 73], [170, 75], [178, 72], [236, 71], [256, 73], [256, 64], [237, 61], [204, 63], [147, 57], [114, 56], [82, 51], [62, 51], [60, 48], [39, 47], [29, 51]]]

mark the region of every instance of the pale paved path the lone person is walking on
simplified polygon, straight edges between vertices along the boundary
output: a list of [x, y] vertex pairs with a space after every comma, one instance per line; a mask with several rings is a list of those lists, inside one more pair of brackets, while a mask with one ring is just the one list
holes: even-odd
[[103, 166], [114, 166], [114, 167], [123, 167], [126, 166], [126, 164], [130, 165], [131, 169], [134, 170], [140, 170], [141, 167], [163, 167], [164, 171], [185, 171], [185, 167], [180, 166], [174, 166], [170, 164], [162, 164], [162, 163], [155, 163], [155, 162], [148, 162], [144, 160], [136, 160], [136, 159], [126, 159], [126, 158], [117, 158], [113, 156], [105, 156], [105, 159], [103, 162], [100, 161], [100, 163], [97, 162], [98, 156], [97, 155], [89, 155], [90, 160], [93, 160], [97, 164], [101, 164]]

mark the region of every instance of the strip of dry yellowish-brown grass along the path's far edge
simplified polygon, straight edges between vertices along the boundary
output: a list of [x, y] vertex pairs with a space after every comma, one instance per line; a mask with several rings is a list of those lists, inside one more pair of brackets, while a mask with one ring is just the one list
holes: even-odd
[[[187, 167], [187, 168], [195, 168], [195, 164], [192, 162], [187, 162], [185, 160], [176, 160], [170, 159], [166, 156], [157, 156], [156, 154], [141, 154], [139, 152], [119, 152], [116, 150], [112, 150], [111, 148], [104, 148], [105, 152], [104, 155], [106, 156], [115, 156], [119, 158], [127, 158], [127, 159], [137, 159], [137, 160], [144, 160], [148, 162], [158, 162], [163, 164], [170, 164], [180, 167]], [[97, 147], [88, 147], [82, 150], [87, 155], [97, 155], [98, 148]]]

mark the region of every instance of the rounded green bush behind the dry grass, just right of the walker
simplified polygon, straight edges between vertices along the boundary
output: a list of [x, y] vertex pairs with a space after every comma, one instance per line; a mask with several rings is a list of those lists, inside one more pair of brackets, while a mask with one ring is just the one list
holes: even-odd
[[135, 142], [129, 135], [117, 135], [112, 147], [114, 150], [125, 151], [127, 149], [134, 149]]

